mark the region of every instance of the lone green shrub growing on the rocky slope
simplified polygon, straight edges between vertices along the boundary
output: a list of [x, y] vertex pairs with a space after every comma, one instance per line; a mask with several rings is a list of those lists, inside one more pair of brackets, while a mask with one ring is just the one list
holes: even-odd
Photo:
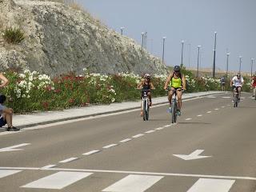
[[16, 28], [6, 28], [3, 33], [3, 38], [8, 43], [18, 44], [25, 38], [24, 32]]

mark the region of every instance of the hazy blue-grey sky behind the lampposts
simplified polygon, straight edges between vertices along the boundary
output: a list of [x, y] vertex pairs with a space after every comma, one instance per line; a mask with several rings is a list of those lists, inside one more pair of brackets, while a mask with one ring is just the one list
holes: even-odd
[[[110, 29], [142, 44], [147, 32], [146, 49], [167, 66], [180, 65], [213, 68], [214, 32], [216, 34], [216, 69], [251, 70], [256, 58], [255, 0], [77, 0], [90, 14]], [[198, 46], [200, 56], [198, 59]], [[253, 72], [256, 71], [254, 60]]]

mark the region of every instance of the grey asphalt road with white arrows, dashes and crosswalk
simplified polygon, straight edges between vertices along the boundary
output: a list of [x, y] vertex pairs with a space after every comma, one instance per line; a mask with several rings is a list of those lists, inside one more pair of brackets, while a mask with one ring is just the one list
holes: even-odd
[[[0, 191], [255, 192], [256, 102], [242, 94], [0, 134]], [[154, 100], [153, 100], [154, 101]]]

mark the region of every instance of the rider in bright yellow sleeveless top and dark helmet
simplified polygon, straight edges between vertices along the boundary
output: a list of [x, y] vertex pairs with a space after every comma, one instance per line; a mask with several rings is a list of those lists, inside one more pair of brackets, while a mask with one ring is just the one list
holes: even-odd
[[[170, 86], [170, 91], [168, 95], [168, 100], [170, 103], [170, 113], [171, 113], [171, 99], [174, 94], [173, 90], [177, 90], [177, 98], [178, 98], [178, 115], [181, 115], [182, 109], [182, 90], [186, 90], [186, 78], [181, 74], [181, 67], [174, 66], [174, 71], [169, 74], [168, 78], [166, 78], [166, 83], [164, 89], [167, 89], [167, 86]], [[182, 89], [182, 90], [181, 90]]]

